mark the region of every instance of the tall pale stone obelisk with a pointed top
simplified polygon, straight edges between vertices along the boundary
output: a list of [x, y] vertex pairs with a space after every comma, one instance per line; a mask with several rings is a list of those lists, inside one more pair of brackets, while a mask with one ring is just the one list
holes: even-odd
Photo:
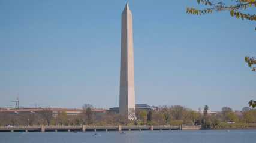
[[[128, 114], [129, 111], [129, 114]], [[122, 12], [119, 113], [132, 119], [135, 111], [132, 14], [128, 4]], [[135, 113], [134, 113], [135, 114]]]

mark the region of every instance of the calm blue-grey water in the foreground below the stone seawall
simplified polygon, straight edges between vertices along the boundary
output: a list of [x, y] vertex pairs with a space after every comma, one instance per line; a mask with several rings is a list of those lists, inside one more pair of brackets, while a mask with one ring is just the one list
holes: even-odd
[[256, 130], [171, 130], [171, 131], [127, 131], [125, 135], [121, 132], [97, 132], [101, 136], [94, 137], [95, 132], [0, 132], [0, 142], [202, 142], [202, 143], [255, 143]]

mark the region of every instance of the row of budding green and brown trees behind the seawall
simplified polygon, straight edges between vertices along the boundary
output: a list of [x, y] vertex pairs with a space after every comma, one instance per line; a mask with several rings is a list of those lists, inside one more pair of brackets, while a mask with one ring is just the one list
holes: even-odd
[[25, 113], [20, 116], [2, 112], [0, 126], [33, 126], [33, 125], [201, 125], [202, 128], [226, 128], [256, 126], [256, 110], [249, 107], [242, 109], [242, 114], [235, 114], [232, 108], [222, 107], [219, 114], [209, 114], [205, 105], [199, 112], [182, 105], [159, 105], [157, 110], [131, 110], [132, 120], [125, 114], [107, 111], [104, 114], [94, 114], [93, 105], [84, 104], [82, 112], [70, 116], [66, 111], [58, 111], [53, 116], [50, 108], [39, 113]]

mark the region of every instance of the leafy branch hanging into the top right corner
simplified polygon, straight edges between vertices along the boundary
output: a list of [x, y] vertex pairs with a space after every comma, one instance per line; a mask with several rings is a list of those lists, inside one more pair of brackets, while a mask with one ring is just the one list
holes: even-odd
[[[234, 4], [226, 5], [224, 2], [219, 1], [219, 2], [212, 2], [210, 0], [197, 0], [198, 4], [200, 2], [203, 2], [205, 5], [209, 5], [208, 8], [205, 8], [204, 10], [197, 9], [197, 8], [186, 8], [186, 13], [188, 14], [196, 14], [196, 15], [201, 15], [201, 14], [207, 14], [207, 13], [212, 13], [213, 10], [215, 11], [225, 11], [228, 10], [230, 11], [231, 17], [236, 17], [236, 18], [242, 18], [255, 21], [256, 20], [256, 15], [255, 14], [246, 14], [242, 13], [240, 10], [244, 11], [243, 9], [246, 9], [247, 7], [256, 7], [256, 1], [255, 0], [238, 0], [235, 1]], [[255, 28], [256, 30], [256, 28]]]

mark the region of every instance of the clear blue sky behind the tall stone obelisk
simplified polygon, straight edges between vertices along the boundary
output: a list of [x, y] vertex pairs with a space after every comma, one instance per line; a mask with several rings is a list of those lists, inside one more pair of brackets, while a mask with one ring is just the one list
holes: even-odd
[[[135, 102], [241, 110], [256, 100], [255, 21], [189, 1], [0, 1], [0, 107], [119, 106], [121, 13], [133, 18]], [[255, 14], [255, 9], [250, 12]]]

